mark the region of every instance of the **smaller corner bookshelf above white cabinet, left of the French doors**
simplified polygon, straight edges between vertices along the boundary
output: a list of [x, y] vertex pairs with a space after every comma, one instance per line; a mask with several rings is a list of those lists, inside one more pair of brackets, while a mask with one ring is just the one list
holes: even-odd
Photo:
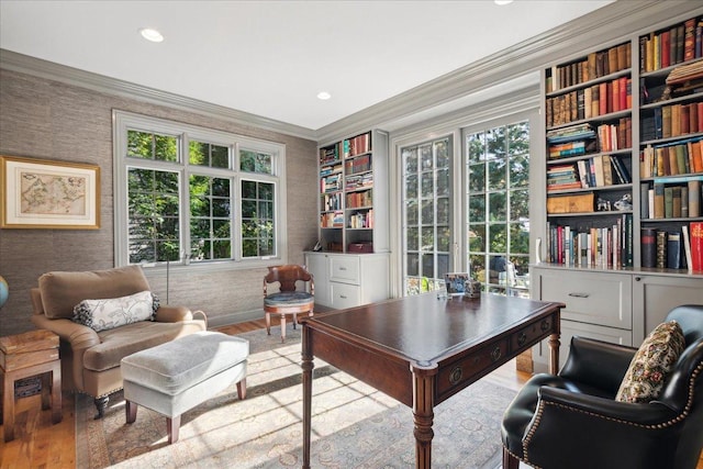
[[320, 147], [320, 246], [387, 252], [388, 134], [369, 131]]

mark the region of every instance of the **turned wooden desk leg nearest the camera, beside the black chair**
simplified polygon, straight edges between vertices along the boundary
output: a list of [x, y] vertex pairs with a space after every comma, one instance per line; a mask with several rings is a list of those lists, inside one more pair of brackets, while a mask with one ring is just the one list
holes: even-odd
[[[434, 432], [434, 381], [435, 375], [427, 375], [427, 370], [413, 369], [413, 416], [415, 435], [415, 468], [429, 469], [432, 467], [432, 438]], [[434, 370], [433, 370], [434, 371]]]

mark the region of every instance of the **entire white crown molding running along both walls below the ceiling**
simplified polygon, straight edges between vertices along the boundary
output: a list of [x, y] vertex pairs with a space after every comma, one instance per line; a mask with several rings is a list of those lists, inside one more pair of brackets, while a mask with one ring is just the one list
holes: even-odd
[[[617, 0], [584, 16], [446, 74], [317, 130], [288, 124], [0, 48], [0, 68], [137, 99], [315, 142], [381, 127], [447, 104], [555, 62], [703, 13], [698, 0]], [[470, 107], [470, 109], [473, 109]], [[455, 114], [454, 112], [451, 113]]]

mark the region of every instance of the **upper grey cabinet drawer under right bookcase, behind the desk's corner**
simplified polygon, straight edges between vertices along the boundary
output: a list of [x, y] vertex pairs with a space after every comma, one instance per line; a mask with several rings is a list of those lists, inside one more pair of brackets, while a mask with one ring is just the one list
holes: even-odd
[[562, 320], [632, 330], [632, 276], [537, 270], [539, 300], [566, 304]]

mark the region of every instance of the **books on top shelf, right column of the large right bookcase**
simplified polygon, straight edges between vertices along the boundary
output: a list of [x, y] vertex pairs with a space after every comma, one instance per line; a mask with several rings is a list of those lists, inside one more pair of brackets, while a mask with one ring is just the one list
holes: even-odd
[[703, 19], [691, 18], [639, 38], [639, 70], [655, 71], [703, 57]]

